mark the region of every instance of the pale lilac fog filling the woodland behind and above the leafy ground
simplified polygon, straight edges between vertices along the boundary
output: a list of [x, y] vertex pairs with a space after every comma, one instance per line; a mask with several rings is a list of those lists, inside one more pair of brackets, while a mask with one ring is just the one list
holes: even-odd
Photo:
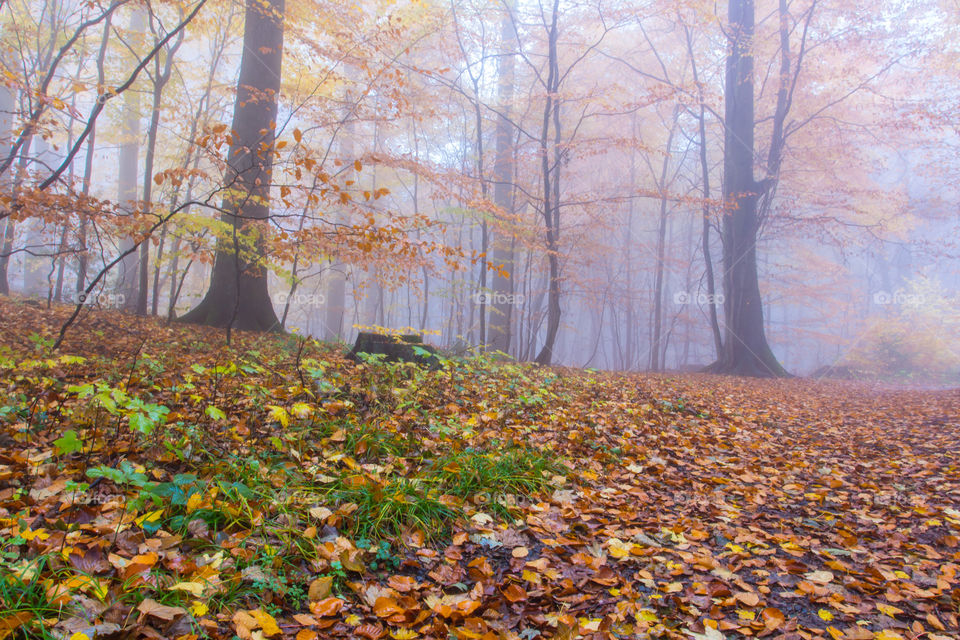
[[263, 6], [0, 4], [0, 292], [960, 380], [956, 3]]

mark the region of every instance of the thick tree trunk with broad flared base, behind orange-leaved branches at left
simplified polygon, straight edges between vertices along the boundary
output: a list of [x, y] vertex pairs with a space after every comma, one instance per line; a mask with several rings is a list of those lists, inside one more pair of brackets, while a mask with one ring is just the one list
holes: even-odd
[[219, 242], [210, 288], [200, 304], [180, 318], [183, 322], [252, 331], [280, 328], [267, 289], [262, 235], [253, 240], [253, 256], [241, 255], [239, 237], [262, 234], [270, 214], [283, 8], [284, 0], [247, 0], [226, 175], [227, 185], [238, 195], [224, 198], [222, 215], [233, 237]]

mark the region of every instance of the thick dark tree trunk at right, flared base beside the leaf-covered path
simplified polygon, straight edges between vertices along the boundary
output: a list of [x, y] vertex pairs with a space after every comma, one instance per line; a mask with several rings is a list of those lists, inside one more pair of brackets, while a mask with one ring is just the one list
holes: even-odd
[[757, 199], [754, 180], [753, 0], [730, 0], [723, 162], [723, 349], [716, 373], [786, 376], [767, 343], [757, 275]]

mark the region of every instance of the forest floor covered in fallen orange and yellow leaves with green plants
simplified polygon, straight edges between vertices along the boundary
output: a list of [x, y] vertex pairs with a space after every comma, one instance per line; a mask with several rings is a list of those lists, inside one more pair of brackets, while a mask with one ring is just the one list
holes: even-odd
[[3, 638], [957, 638], [960, 390], [0, 299]]

